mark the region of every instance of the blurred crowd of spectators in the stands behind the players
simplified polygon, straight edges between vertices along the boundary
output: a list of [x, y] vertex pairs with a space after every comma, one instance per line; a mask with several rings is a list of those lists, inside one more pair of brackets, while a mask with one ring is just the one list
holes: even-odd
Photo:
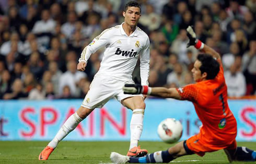
[[[0, 98], [84, 98], [104, 49], [85, 72], [80, 53], [104, 29], [123, 22], [125, 0], [1, 0]], [[186, 28], [222, 55], [228, 95], [255, 95], [256, 1], [140, 0], [138, 26], [150, 38], [149, 86], [193, 83], [198, 52], [186, 48]], [[139, 67], [134, 76], [138, 76]]]

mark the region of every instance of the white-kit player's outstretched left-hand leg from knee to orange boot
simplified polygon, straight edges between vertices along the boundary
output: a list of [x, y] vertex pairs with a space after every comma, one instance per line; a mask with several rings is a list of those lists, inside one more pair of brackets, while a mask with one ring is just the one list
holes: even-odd
[[57, 147], [57, 144], [59, 144], [63, 138], [72, 132], [76, 126], [92, 112], [92, 110], [93, 109], [88, 109], [81, 106], [74, 114], [69, 116], [59, 132], [57, 132], [51, 142], [42, 150], [39, 155], [39, 160], [47, 160], [52, 151]]

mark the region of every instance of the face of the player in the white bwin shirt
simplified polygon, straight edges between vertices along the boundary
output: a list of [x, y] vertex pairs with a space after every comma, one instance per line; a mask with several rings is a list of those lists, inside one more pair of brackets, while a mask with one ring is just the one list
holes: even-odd
[[124, 12], [124, 22], [130, 26], [137, 26], [138, 20], [141, 17], [141, 12], [138, 7], [128, 7]]

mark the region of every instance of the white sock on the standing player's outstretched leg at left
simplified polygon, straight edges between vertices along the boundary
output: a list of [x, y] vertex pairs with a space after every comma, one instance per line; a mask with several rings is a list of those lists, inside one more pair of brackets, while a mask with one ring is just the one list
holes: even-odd
[[52, 148], [56, 148], [57, 144], [63, 138], [65, 138], [68, 135], [68, 133], [72, 132], [81, 121], [83, 121], [83, 119], [80, 118], [76, 112], [71, 116], [69, 116], [67, 121], [62, 125], [61, 129], [55, 135], [55, 137], [51, 140], [48, 146]]

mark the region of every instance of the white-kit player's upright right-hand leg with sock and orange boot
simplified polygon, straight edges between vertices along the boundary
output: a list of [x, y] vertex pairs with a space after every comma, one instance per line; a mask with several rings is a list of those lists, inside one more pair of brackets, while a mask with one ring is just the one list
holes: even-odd
[[141, 138], [143, 129], [144, 110], [146, 107], [144, 98], [142, 96], [128, 97], [123, 99], [121, 103], [124, 104], [125, 107], [130, 108], [133, 111], [130, 123], [130, 148], [127, 156], [143, 157], [147, 155], [147, 150], [141, 149], [141, 147], [138, 146], [138, 140], [139, 138]]

